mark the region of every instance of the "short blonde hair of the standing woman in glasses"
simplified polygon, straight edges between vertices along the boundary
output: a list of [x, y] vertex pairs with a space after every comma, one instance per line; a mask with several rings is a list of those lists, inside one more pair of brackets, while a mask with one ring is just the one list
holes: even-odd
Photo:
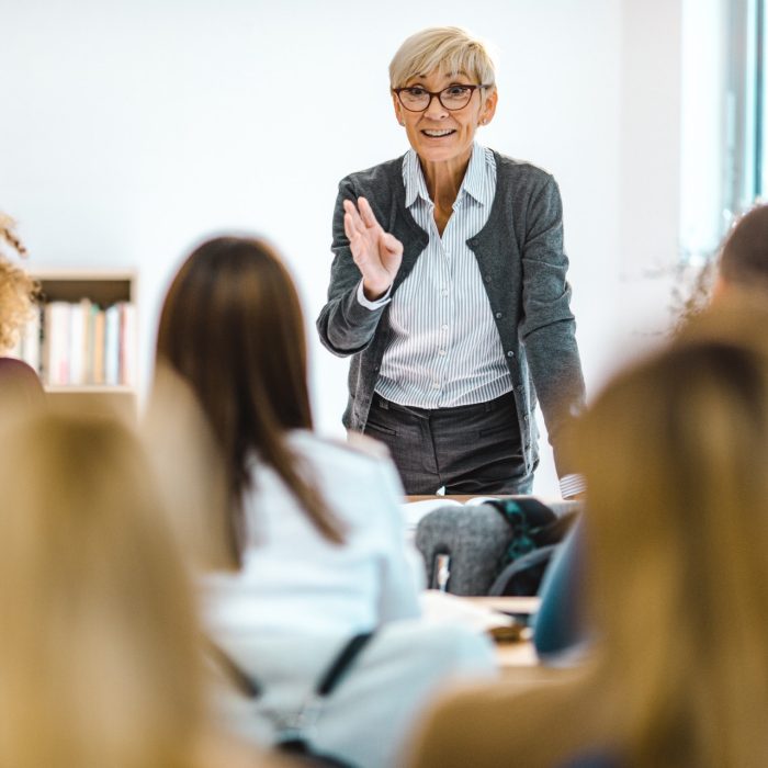
[[459, 26], [432, 26], [408, 37], [389, 63], [389, 86], [402, 88], [434, 70], [465, 72], [478, 84], [496, 84], [488, 45]]

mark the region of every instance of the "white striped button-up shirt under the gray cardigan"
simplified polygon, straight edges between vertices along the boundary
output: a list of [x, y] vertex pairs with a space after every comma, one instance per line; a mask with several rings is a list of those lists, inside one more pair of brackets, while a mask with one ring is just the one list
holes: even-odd
[[392, 329], [375, 391], [393, 403], [448, 408], [485, 403], [512, 387], [483, 278], [466, 240], [488, 219], [496, 194], [493, 153], [474, 145], [442, 237], [418, 155], [403, 160], [406, 206], [429, 235], [413, 271], [388, 301]]

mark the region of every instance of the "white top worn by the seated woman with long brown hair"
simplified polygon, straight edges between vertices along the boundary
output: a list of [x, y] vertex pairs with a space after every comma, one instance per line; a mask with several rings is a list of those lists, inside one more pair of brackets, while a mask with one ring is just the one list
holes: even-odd
[[405, 541], [394, 464], [307, 431], [292, 432], [290, 444], [347, 526], [346, 541], [324, 539], [278, 474], [253, 458], [244, 566], [203, 581], [214, 636], [300, 629], [351, 634], [417, 617], [423, 563]]

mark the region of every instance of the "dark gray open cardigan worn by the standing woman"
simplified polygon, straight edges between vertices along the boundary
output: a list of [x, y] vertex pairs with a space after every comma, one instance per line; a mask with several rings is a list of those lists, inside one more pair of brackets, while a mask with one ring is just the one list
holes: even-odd
[[[569, 307], [560, 191], [553, 177], [542, 169], [498, 153], [494, 156], [496, 197], [487, 223], [467, 246], [477, 258], [507, 355], [526, 468], [533, 471], [539, 458], [533, 417], [538, 395], [562, 477], [574, 467], [565, 465], [558, 438], [584, 406], [585, 391], [576, 321]], [[361, 275], [345, 235], [342, 203], [361, 195], [371, 203], [384, 230], [404, 247], [393, 294], [429, 240], [405, 207], [402, 157], [351, 173], [339, 183], [328, 303], [317, 318], [317, 329], [334, 354], [352, 355], [342, 421], [348, 429], [359, 431], [365, 427], [389, 340], [388, 304], [372, 312], [357, 300]]]

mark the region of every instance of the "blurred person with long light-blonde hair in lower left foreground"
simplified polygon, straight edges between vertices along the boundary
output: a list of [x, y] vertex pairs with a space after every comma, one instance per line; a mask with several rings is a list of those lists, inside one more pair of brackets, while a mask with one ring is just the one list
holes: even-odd
[[135, 437], [42, 413], [0, 447], [0, 765], [267, 765], [211, 724], [191, 588]]

